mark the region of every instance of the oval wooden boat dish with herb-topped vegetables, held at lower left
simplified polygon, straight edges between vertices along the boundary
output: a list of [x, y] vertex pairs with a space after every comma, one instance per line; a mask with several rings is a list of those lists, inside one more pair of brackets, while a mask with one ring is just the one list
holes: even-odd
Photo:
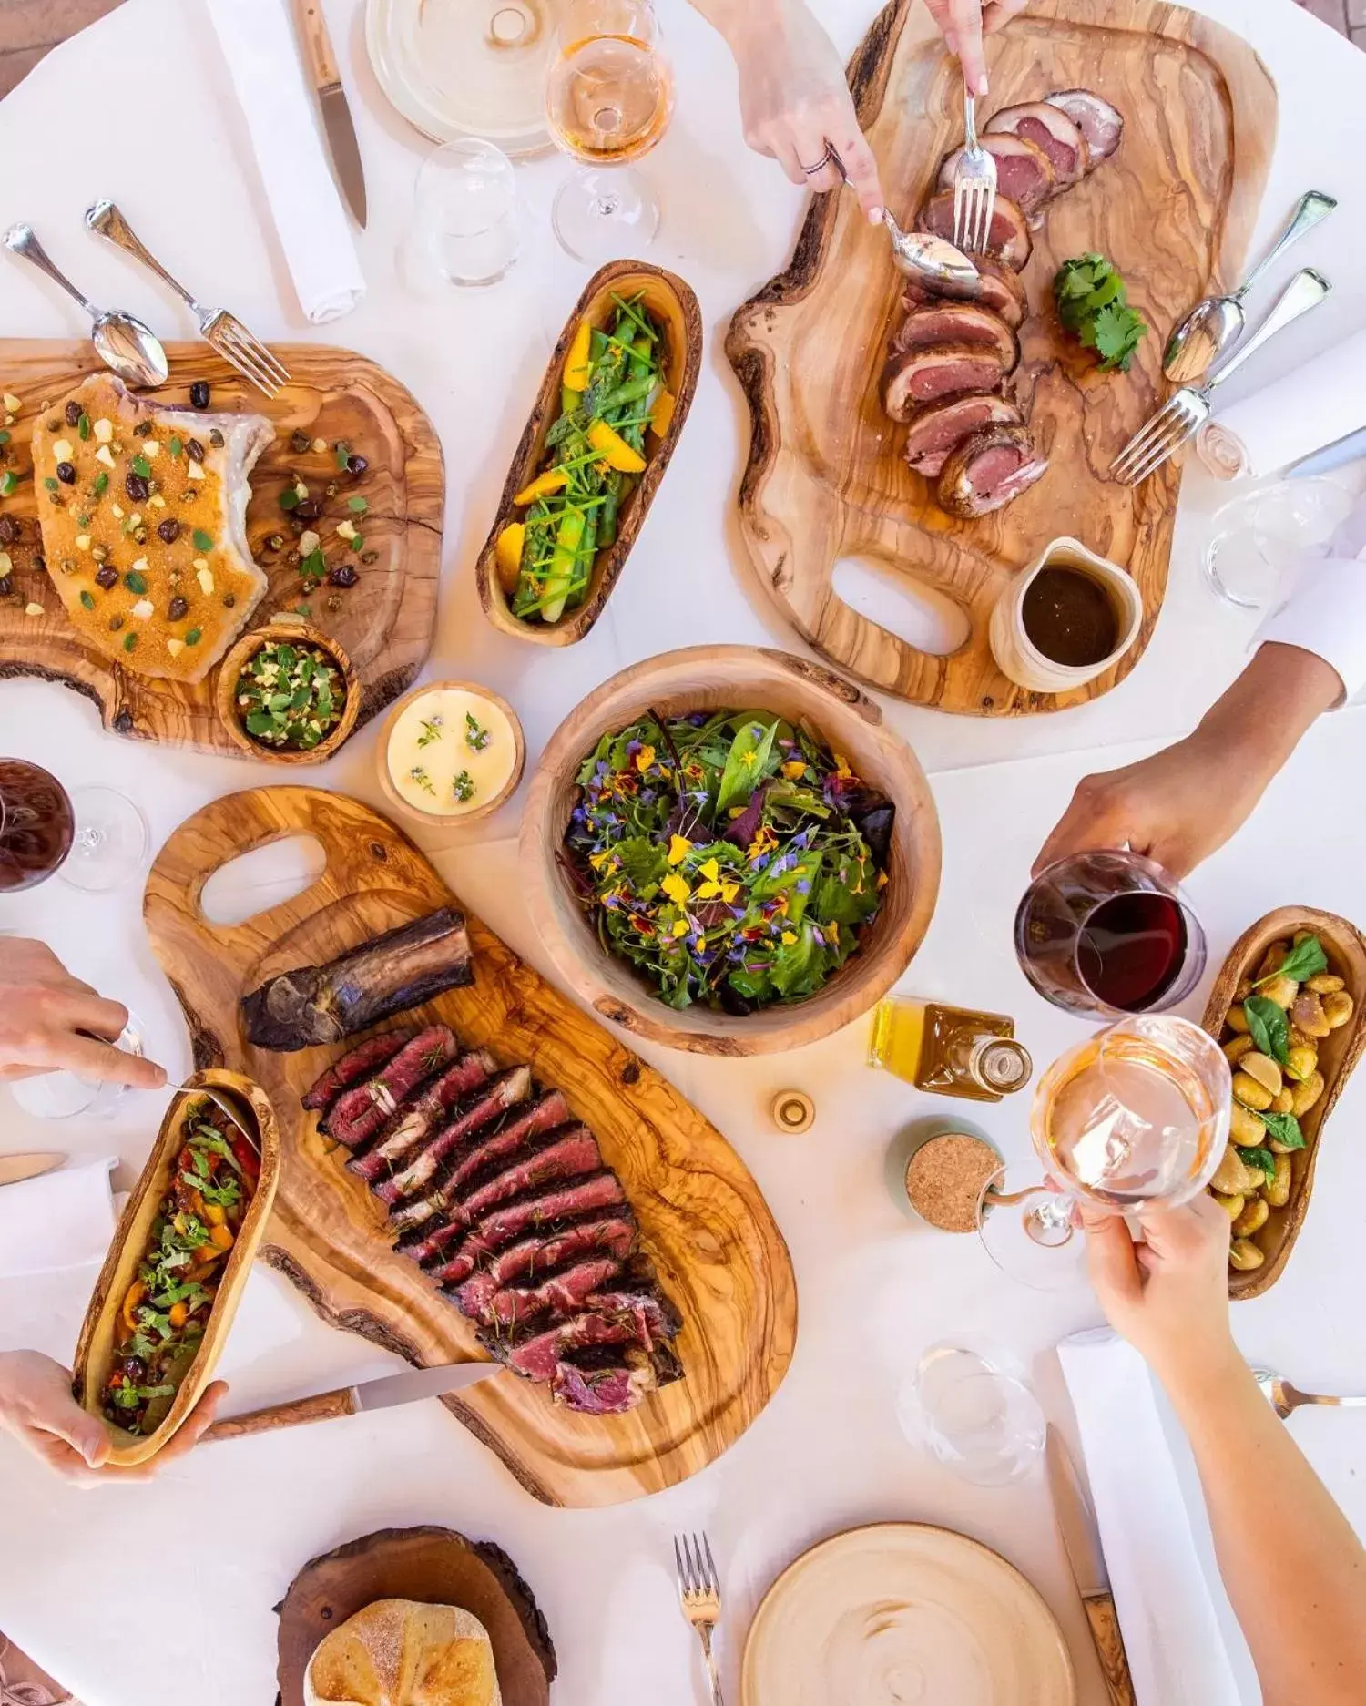
[[[232, 1256], [229, 1256], [223, 1268], [223, 1278], [213, 1302], [208, 1329], [200, 1344], [200, 1353], [181, 1382], [165, 1419], [159, 1428], [143, 1436], [126, 1433], [123, 1428], [114, 1428], [104, 1421], [114, 1445], [109, 1462], [116, 1467], [145, 1464], [148, 1457], [155, 1457], [174, 1438], [176, 1430], [191, 1409], [194, 1409], [205, 1387], [213, 1378], [213, 1367], [227, 1343], [232, 1317], [237, 1314], [237, 1303], [247, 1283], [256, 1247], [269, 1220], [275, 1186], [280, 1175], [280, 1133], [266, 1092], [242, 1073], [227, 1071], [225, 1068], [198, 1071], [188, 1083], [189, 1088], [179, 1094], [167, 1109], [162, 1129], [152, 1146], [152, 1155], [119, 1216], [114, 1242], [104, 1257], [104, 1266], [99, 1271], [99, 1280], [90, 1297], [90, 1307], [85, 1310], [85, 1320], [80, 1327], [75, 1353], [75, 1392], [82, 1407], [92, 1416], [104, 1421], [101, 1392], [114, 1355], [123, 1298], [138, 1276], [138, 1262], [147, 1249], [152, 1221], [157, 1218], [157, 1210], [171, 1181], [171, 1169], [181, 1150], [186, 1111], [194, 1102], [194, 1090], [200, 1085], [234, 1092], [234, 1107], [246, 1104], [254, 1114], [256, 1140], [261, 1150], [261, 1181], [247, 1208]], [[246, 1112], [246, 1107], [242, 1107], [242, 1112]]]

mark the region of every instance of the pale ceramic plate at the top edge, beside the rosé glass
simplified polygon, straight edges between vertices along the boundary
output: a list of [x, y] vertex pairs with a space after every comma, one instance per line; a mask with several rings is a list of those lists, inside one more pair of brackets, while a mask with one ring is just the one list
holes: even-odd
[[433, 142], [483, 136], [513, 159], [551, 147], [553, 0], [370, 0], [380, 89]]

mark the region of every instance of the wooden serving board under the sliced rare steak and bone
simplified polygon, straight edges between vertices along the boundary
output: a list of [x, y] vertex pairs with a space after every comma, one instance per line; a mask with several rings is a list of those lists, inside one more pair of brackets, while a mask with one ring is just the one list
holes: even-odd
[[[246, 923], [210, 923], [206, 879], [239, 853], [312, 834], [327, 867], [312, 887]], [[413, 843], [344, 795], [256, 788], [186, 819], [157, 855], [143, 902], [152, 947], [184, 1008], [198, 1065], [234, 1065], [273, 1099], [281, 1133], [275, 1218], [261, 1254], [333, 1326], [430, 1367], [484, 1356], [474, 1327], [391, 1249], [382, 1204], [319, 1136], [300, 1095], [348, 1042], [297, 1054], [252, 1047], [239, 998], [293, 966], [321, 964], [454, 897]], [[459, 906], [459, 901], [454, 901]], [[653, 1068], [580, 1012], [478, 918], [476, 983], [413, 1012], [443, 1020], [500, 1066], [527, 1061], [592, 1126], [677, 1303], [684, 1378], [628, 1416], [588, 1418], [513, 1373], [447, 1407], [551, 1505], [612, 1505], [696, 1474], [754, 1421], [796, 1339], [783, 1235], [720, 1134]]]

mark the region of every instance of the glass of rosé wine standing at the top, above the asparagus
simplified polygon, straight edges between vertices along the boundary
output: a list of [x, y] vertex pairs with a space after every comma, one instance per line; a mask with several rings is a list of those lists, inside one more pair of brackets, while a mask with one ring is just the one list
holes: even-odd
[[597, 264], [651, 242], [658, 196], [628, 162], [655, 147], [672, 113], [674, 73], [650, 0], [566, 0], [546, 118], [556, 143], [583, 162], [551, 213], [575, 259]]

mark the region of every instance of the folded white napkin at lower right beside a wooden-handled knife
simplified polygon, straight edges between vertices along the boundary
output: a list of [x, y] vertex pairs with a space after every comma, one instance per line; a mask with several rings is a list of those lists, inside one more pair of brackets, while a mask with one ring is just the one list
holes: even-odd
[[1139, 1706], [1238, 1706], [1219, 1616], [1143, 1358], [1108, 1331], [1057, 1346]]

